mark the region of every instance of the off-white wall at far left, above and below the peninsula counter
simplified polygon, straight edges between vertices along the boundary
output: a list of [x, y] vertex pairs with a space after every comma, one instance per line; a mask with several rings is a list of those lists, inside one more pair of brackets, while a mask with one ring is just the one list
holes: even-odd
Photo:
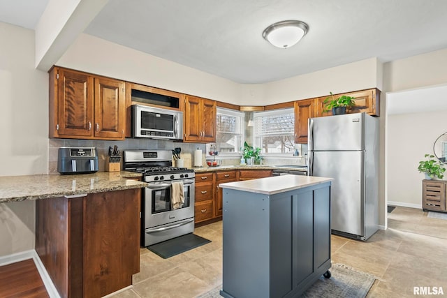
[[[0, 40], [0, 176], [46, 174], [48, 75], [34, 68], [34, 31], [0, 22]], [[0, 239], [0, 255], [34, 248], [33, 201], [0, 204]]]

